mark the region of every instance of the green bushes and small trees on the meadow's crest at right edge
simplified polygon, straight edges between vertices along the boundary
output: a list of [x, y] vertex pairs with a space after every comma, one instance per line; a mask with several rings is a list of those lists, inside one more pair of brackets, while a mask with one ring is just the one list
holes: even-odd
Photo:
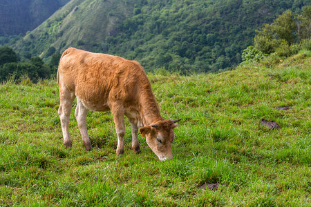
[[256, 32], [254, 46], [243, 51], [243, 61], [258, 61], [272, 53], [281, 59], [295, 55], [301, 48], [311, 50], [311, 6], [303, 7], [295, 17], [287, 10]]

